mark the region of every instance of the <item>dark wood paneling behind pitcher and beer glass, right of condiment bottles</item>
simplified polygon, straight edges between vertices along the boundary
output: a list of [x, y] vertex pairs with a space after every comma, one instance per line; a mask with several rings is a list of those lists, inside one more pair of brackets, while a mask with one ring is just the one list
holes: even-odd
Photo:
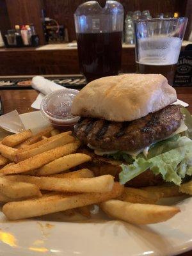
[[[103, 3], [103, 0], [100, 0]], [[152, 17], [156, 17], [159, 13], [173, 16], [174, 12], [179, 12], [181, 16], [186, 13], [186, 6], [191, 0], [118, 0], [123, 4], [125, 14], [128, 11], [134, 12], [135, 10], [150, 10]], [[69, 40], [76, 39], [74, 27], [74, 12], [77, 6], [84, 3], [83, 0], [44, 0], [45, 13], [47, 17], [58, 20], [68, 29]], [[192, 1], [191, 1], [192, 2]], [[188, 8], [188, 12], [192, 12]]]

